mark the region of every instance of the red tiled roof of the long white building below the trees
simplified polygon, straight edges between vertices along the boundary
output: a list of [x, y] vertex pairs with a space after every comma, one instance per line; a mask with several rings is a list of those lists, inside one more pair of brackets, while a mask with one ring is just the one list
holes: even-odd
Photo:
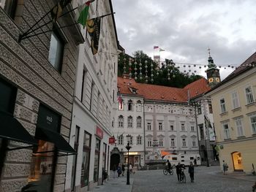
[[[136, 88], [137, 94], [132, 93], [129, 90], [129, 87]], [[118, 77], [118, 88], [120, 94], [140, 95], [145, 99], [174, 102], [187, 102], [189, 98], [192, 99], [192, 97], [198, 96], [210, 90], [210, 87], [204, 78], [190, 83], [185, 88], [171, 88], [162, 85], [138, 83], [135, 82], [134, 79], [129, 80], [124, 79], [123, 77]]]

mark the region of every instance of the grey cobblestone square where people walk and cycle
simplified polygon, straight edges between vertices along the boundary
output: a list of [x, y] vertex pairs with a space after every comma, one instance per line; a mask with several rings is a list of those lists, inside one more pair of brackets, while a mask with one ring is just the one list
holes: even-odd
[[242, 174], [223, 175], [219, 166], [195, 167], [195, 183], [190, 183], [187, 169], [187, 183], [178, 183], [176, 169], [173, 175], [164, 175], [162, 170], [136, 172], [132, 192], [162, 192], [162, 191], [252, 191], [254, 176]]

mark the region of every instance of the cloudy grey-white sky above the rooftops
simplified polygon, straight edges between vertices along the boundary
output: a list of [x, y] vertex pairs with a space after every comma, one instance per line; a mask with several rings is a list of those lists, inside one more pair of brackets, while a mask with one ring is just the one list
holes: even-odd
[[[256, 51], [255, 0], [112, 0], [118, 40], [126, 53], [143, 50], [161, 61], [240, 65]], [[184, 66], [184, 65], [182, 65]], [[194, 70], [194, 69], [192, 69]], [[204, 70], [195, 68], [197, 74]], [[221, 68], [222, 79], [233, 70]]]

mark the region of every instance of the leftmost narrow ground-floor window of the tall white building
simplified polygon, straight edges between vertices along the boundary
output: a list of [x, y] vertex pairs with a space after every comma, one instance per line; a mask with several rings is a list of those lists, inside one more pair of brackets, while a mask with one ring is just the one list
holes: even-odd
[[[74, 150], [78, 153], [78, 145], [79, 145], [79, 126], [75, 127], [75, 144], [74, 144]], [[77, 168], [77, 161], [78, 161], [78, 154], [75, 154], [73, 156], [73, 163], [72, 163], [72, 173], [71, 173], [71, 188], [72, 190], [75, 189], [75, 173]]]

